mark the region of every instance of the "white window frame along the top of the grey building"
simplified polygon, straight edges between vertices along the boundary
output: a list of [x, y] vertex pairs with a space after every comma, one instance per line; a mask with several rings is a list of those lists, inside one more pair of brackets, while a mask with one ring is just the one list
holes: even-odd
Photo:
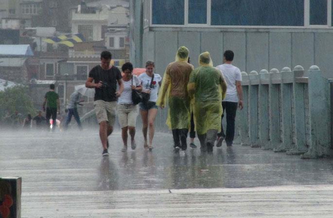
[[[207, 24], [192, 24], [189, 20], [189, 0], [184, 0], [184, 24], [153, 24], [153, 0], [149, 0], [149, 27], [202, 27], [202, 28], [236, 28], [236, 29], [331, 29], [332, 26], [332, 1], [327, 0], [327, 25], [310, 25], [310, 0], [304, 0], [304, 25], [303, 26], [228, 26], [211, 25], [211, 0], [207, 0]], [[145, 28], [145, 27], [144, 27]]]

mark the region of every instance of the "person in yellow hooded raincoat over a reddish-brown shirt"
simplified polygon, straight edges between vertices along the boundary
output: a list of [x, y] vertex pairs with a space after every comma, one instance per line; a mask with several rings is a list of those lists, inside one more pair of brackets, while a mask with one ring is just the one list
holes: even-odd
[[190, 127], [191, 109], [187, 84], [193, 66], [188, 62], [189, 50], [182, 46], [177, 50], [175, 62], [170, 63], [164, 72], [157, 105], [164, 108], [168, 103], [166, 124], [172, 130], [175, 152], [187, 149], [187, 134]]

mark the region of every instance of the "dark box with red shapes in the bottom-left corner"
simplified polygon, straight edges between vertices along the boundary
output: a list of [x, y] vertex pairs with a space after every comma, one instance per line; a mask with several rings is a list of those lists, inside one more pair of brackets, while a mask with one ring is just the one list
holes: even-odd
[[1, 218], [21, 218], [21, 187], [21, 177], [0, 178]]

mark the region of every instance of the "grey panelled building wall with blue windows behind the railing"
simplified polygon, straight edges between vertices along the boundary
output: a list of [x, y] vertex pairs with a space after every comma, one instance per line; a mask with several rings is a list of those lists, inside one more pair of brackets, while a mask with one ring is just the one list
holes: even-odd
[[[203, 51], [210, 51], [218, 65], [224, 50], [233, 50], [234, 64], [242, 71], [317, 65], [326, 77], [333, 77], [332, 0], [139, 0], [130, 4], [136, 22], [131, 23], [131, 61], [143, 66], [154, 60], [160, 74], [184, 45], [195, 67]], [[138, 24], [140, 28], [133, 27]]]

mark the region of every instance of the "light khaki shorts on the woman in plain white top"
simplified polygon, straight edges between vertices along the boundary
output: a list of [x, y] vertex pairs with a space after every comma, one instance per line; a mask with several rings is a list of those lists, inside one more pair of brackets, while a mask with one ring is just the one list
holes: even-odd
[[135, 127], [138, 117], [138, 105], [134, 104], [118, 104], [117, 114], [119, 125], [121, 128], [126, 126]]

